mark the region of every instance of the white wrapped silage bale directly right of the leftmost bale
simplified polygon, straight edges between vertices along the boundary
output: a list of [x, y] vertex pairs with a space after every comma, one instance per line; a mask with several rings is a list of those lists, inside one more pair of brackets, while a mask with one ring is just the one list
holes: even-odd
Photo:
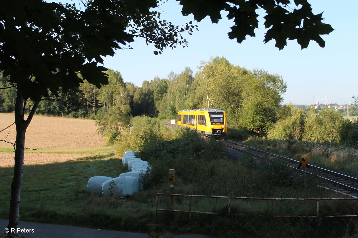
[[126, 196], [133, 194], [133, 188], [130, 181], [126, 182], [126, 177], [117, 177], [108, 179], [102, 184], [102, 196]]

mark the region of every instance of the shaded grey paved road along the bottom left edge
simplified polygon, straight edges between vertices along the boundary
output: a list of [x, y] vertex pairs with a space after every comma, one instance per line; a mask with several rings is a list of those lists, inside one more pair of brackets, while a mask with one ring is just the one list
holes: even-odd
[[[0, 219], [0, 234], [5, 233], [8, 220]], [[82, 227], [62, 226], [20, 221], [18, 234], [25, 238], [148, 238], [148, 234], [97, 230]], [[27, 229], [27, 231], [25, 231]], [[181, 234], [174, 238], [208, 238], [197, 234]]]

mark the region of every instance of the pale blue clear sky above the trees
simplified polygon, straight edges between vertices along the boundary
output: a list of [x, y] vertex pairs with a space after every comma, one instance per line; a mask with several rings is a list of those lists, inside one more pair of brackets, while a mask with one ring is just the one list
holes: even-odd
[[[73, 1], [76, 2], [76, 1]], [[228, 39], [227, 32], [232, 26], [227, 19], [212, 24], [209, 17], [198, 23], [199, 31], [183, 35], [188, 47], [166, 49], [162, 55], [154, 55], [155, 47], [146, 46], [144, 40], [130, 44], [134, 49], [117, 50], [114, 57], [105, 59], [105, 67], [121, 72], [125, 81], [141, 86], [144, 80], [155, 76], [165, 78], [170, 71], [176, 74], [190, 67], [194, 74], [201, 61], [210, 57], [226, 57], [233, 65], [248, 70], [259, 68], [271, 74], [279, 74], [287, 82], [283, 103], [295, 99], [296, 104], [310, 105], [318, 97], [320, 103], [325, 96], [327, 103], [351, 103], [351, 97], [358, 95], [357, 0], [310, 0], [315, 14], [322, 11], [324, 23], [335, 29], [324, 35], [325, 48], [311, 41], [308, 49], [301, 50], [296, 41], [288, 41], [283, 50], [275, 47], [272, 40], [263, 44], [265, 28], [261, 24], [255, 31], [256, 37], [247, 37], [242, 44]], [[194, 21], [193, 16], [183, 17], [181, 7], [169, 0], [160, 7], [161, 18], [184, 24]], [[263, 23], [263, 16], [260, 16]]]

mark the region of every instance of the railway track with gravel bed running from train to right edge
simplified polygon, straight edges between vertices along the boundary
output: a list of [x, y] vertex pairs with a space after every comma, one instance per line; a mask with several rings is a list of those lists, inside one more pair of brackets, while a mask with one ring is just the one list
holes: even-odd
[[[233, 150], [247, 153], [256, 158], [271, 160], [282, 159], [282, 161], [285, 161], [285, 164], [287, 166], [295, 170], [297, 170], [297, 167], [300, 164], [299, 160], [279, 156], [274, 153], [263, 151], [234, 141], [224, 140], [223, 144], [224, 146], [229, 147]], [[325, 188], [334, 190], [349, 197], [358, 197], [358, 178], [354, 178], [342, 173], [337, 173], [335, 171], [314, 166], [312, 164], [309, 164], [309, 166], [310, 169], [306, 169], [306, 173], [323, 179], [323, 181], [329, 184], [329, 186], [325, 186]], [[300, 171], [303, 172], [303, 167], [300, 168]]]

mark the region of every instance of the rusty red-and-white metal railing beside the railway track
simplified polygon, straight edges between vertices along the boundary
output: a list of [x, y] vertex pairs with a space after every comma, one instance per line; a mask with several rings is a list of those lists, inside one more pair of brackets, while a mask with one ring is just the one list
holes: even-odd
[[[176, 196], [176, 197], [189, 197], [189, 210], [175, 210], [175, 209], [159, 209], [158, 208], [158, 197], [159, 196]], [[239, 199], [239, 200], [269, 200], [271, 201], [271, 216], [272, 217], [318, 217], [319, 216], [319, 202], [320, 201], [339, 201], [339, 200], [356, 200], [357, 198], [258, 198], [258, 197], [226, 197], [226, 196], [204, 196], [204, 195], [188, 195], [188, 194], [169, 194], [169, 193], [158, 193], [156, 195], [156, 211], [155, 215], [158, 216], [158, 211], [166, 211], [166, 212], [184, 212], [189, 213], [189, 217], [191, 218], [192, 213], [200, 213], [200, 214], [217, 214], [216, 212], [200, 212], [200, 211], [192, 211], [192, 198], [219, 198], [219, 199], [227, 199], [228, 204], [228, 214], [232, 215], [243, 215], [243, 214], [235, 214], [230, 212], [230, 199]], [[316, 215], [315, 216], [281, 216], [274, 215], [274, 201], [316, 201]], [[358, 203], [352, 203], [351, 208], [353, 210], [358, 211]], [[343, 217], [358, 217], [358, 214], [355, 215], [331, 215], [324, 216], [329, 218], [343, 218]]]

